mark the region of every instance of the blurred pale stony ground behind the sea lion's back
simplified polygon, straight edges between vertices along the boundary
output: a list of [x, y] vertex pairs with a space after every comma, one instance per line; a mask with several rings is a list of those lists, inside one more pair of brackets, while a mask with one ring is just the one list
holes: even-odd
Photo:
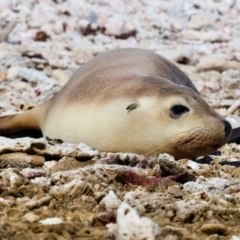
[[0, 0], [0, 109], [31, 108], [100, 52], [139, 47], [175, 62], [238, 125], [239, 38], [238, 0]]

